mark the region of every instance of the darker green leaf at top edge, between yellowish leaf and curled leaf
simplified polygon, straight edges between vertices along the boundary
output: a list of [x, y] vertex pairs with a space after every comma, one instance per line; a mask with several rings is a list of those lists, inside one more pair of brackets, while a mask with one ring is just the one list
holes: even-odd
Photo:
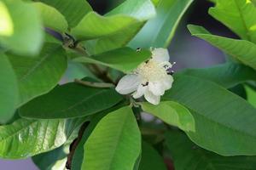
[[85, 0], [39, 0], [60, 11], [67, 20], [68, 26], [73, 28], [79, 24], [84, 15], [89, 13], [92, 8]]

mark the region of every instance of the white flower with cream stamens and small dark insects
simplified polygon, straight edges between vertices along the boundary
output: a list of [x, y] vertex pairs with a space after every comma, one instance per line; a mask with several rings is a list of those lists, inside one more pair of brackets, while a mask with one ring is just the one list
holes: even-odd
[[134, 99], [144, 95], [149, 103], [158, 105], [160, 96], [172, 88], [172, 64], [165, 48], [151, 50], [152, 57], [131, 74], [122, 77], [115, 88], [119, 94], [132, 94]]

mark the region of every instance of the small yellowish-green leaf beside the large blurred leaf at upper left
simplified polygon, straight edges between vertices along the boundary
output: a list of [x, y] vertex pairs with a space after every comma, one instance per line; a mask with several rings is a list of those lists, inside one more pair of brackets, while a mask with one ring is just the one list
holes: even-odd
[[33, 3], [33, 5], [40, 11], [44, 26], [55, 31], [67, 31], [67, 20], [59, 11], [44, 3]]

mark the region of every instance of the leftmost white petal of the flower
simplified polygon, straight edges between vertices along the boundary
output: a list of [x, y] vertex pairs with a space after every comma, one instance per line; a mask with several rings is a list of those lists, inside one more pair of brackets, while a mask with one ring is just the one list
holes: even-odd
[[137, 75], [126, 75], [122, 77], [115, 88], [119, 94], [131, 94], [137, 90], [138, 85], [141, 83], [141, 78]]

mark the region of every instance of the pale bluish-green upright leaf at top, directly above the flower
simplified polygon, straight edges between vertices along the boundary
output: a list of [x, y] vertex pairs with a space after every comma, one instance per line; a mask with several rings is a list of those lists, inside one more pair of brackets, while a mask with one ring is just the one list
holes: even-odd
[[185, 11], [193, 0], [161, 0], [156, 9], [156, 17], [149, 20], [131, 41], [133, 48], [168, 47]]

